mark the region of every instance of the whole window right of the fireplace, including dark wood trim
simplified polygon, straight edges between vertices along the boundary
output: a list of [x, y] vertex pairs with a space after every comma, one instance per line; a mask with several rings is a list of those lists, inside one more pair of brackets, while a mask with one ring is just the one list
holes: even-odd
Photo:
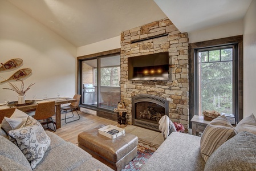
[[242, 40], [239, 35], [189, 44], [190, 120], [204, 110], [242, 119]]

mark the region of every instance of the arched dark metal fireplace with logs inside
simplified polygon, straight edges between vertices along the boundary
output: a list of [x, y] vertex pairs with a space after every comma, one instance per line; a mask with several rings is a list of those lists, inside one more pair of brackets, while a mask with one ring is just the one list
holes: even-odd
[[168, 101], [155, 95], [132, 97], [132, 124], [159, 131], [159, 120], [168, 116]]

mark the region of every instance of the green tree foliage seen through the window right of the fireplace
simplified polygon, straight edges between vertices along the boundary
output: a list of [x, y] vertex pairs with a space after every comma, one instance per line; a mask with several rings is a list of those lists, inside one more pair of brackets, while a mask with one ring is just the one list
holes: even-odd
[[233, 113], [232, 62], [226, 61], [232, 59], [231, 49], [209, 51], [208, 60], [205, 56], [207, 53], [201, 52], [199, 55], [203, 57], [202, 63], [198, 66], [201, 81], [201, 112], [214, 110]]

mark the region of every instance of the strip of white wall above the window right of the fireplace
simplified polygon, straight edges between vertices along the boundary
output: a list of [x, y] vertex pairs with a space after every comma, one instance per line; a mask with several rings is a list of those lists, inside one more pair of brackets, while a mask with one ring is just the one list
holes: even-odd
[[235, 21], [226, 23], [226, 25], [206, 28], [204, 30], [197, 30], [188, 32], [189, 43], [202, 42], [204, 40], [213, 40], [220, 38], [227, 38], [230, 36], [243, 34], [243, 21]]

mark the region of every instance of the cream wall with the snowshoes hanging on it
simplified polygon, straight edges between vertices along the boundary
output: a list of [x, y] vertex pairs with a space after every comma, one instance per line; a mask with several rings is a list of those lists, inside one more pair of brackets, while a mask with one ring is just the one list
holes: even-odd
[[[8, 1], [0, 1], [0, 62], [22, 58], [23, 66], [8, 72], [0, 72], [7, 79], [21, 68], [31, 68], [32, 75], [24, 80], [25, 87], [35, 83], [26, 93], [26, 99], [36, 94], [43, 98], [74, 96], [76, 89], [76, 47], [59, 35], [23, 13]], [[0, 78], [2, 81], [3, 79]], [[0, 103], [8, 97], [18, 100], [17, 93], [2, 89]]]

